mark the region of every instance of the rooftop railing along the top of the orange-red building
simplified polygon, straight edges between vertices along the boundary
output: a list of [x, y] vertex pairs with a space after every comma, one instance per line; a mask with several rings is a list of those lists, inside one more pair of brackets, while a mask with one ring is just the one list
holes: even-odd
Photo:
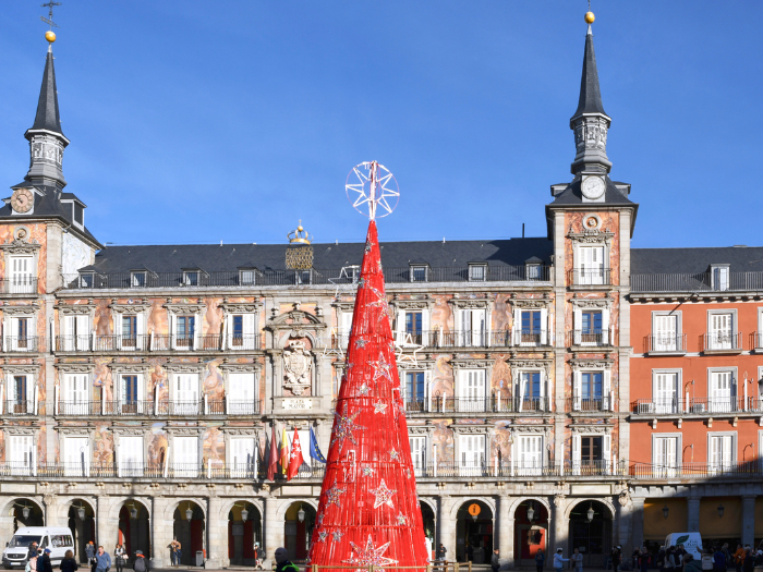
[[751, 292], [763, 290], [763, 272], [729, 272], [714, 280], [712, 272], [631, 275], [632, 292]]

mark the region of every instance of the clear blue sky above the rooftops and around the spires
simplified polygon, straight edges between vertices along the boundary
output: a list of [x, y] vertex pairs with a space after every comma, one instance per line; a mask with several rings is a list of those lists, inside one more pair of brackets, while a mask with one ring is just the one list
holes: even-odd
[[[3, 2], [0, 173], [28, 168], [41, 0]], [[592, 5], [634, 246], [761, 245], [763, 3]], [[350, 169], [396, 175], [383, 240], [545, 235], [569, 181], [586, 4], [63, 0], [68, 191], [104, 243], [362, 241]], [[755, 165], [759, 167], [756, 168]], [[7, 192], [10, 195], [10, 191]]]

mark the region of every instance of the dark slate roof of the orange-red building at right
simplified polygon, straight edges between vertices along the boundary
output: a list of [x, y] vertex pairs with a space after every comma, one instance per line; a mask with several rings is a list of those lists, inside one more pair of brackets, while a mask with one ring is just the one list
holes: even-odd
[[728, 264], [731, 272], [763, 271], [763, 247], [631, 248], [631, 275], [702, 273], [712, 264]]

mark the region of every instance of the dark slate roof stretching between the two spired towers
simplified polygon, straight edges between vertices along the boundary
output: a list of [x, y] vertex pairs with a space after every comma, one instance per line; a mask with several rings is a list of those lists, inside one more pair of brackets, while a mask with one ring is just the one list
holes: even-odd
[[[154, 272], [178, 272], [199, 268], [207, 272], [234, 271], [238, 268], [279, 270], [286, 266], [288, 244], [186, 244], [149, 246], [107, 246], [96, 254], [94, 269], [101, 273], [149, 269]], [[340, 269], [360, 265], [364, 243], [313, 244], [313, 267]], [[537, 257], [550, 265], [552, 242], [541, 239], [499, 241], [383, 242], [385, 267], [408, 267], [426, 263], [431, 267], [467, 267], [469, 263], [489, 266], [523, 266]]]

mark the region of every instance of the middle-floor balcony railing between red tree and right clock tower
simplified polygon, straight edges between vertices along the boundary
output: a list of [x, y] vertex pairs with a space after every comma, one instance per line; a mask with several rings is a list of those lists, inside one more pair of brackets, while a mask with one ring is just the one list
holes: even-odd
[[407, 399], [405, 412], [415, 413], [548, 413], [549, 398], [453, 398]]

